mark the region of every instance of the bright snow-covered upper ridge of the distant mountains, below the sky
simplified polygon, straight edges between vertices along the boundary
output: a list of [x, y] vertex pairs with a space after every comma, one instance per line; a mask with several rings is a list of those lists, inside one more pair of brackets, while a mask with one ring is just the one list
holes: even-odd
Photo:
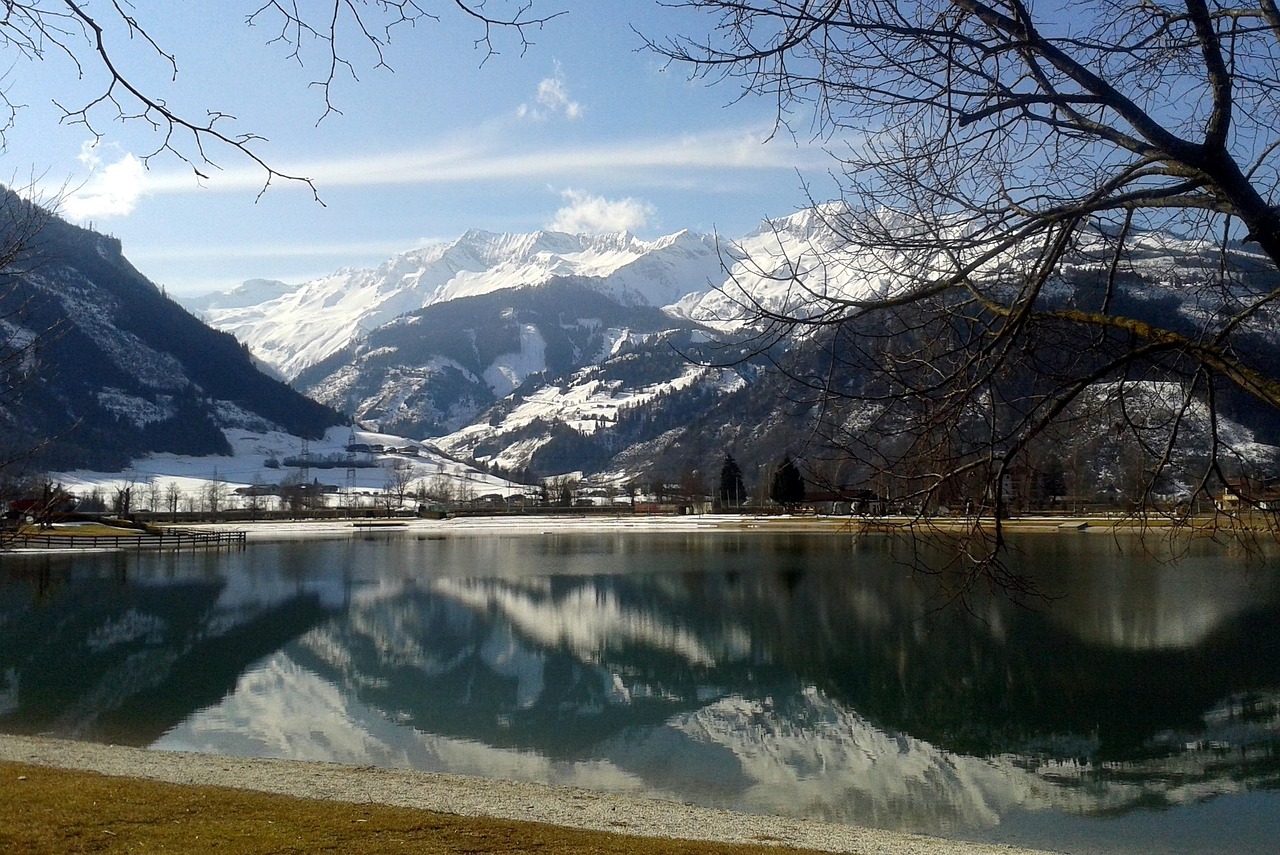
[[[835, 251], [845, 243], [824, 223], [819, 211], [803, 211], [740, 241], [687, 230], [654, 241], [627, 233], [471, 230], [372, 270], [339, 270], [292, 289], [252, 280], [184, 305], [289, 379], [401, 315], [563, 278], [591, 279], [599, 293], [622, 306], [735, 326], [742, 320], [744, 291], [765, 305], [786, 305], [794, 298], [788, 273], [812, 271], [815, 250]], [[842, 269], [827, 287], [859, 283]]]

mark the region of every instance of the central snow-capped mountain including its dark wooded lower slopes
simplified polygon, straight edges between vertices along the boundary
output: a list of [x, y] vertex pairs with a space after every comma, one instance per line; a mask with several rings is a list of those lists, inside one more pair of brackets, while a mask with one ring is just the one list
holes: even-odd
[[[252, 280], [186, 305], [360, 425], [494, 471], [600, 472], [649, 448], [698, 468], [701, 451], [660, 438], [765, 370], [714, 366], [744, 296], [781, 306], [788, 273], [841, 246], [824, 221], [803, 211], [733, 242], [471, 230], [372, 270]], [[723, 449], [708, 453], [718, 466]]]

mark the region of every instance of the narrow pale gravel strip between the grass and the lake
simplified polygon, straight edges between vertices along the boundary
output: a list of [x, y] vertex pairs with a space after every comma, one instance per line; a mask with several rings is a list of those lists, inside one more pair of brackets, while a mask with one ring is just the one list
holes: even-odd
[[184, 754], [27, 736], [0, 736], [0, 760], [306, 799], [417, 808], [648, 837], [781, 843], [867, 855], [1034, 855], [1033, 850], [735, 814], [588, 790], [403, 769]]

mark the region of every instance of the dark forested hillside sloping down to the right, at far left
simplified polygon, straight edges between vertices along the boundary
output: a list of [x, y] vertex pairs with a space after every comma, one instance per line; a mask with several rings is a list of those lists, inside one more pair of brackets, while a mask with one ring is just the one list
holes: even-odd
[[[8, 233], [40, 212], [9, 192]], [[3, 230], [4, 227], [0, 227]], [[6, 456], [41, 447], [50, 468], [111, 468], [147, 452], [227, 453], [221, 427], [319, 436], [342, 416], [253, 365], [225, 333], [140, 274], [119, 241], [50, 218], [0, 271]], [[28, 343], [23, 352], [18, 352]]]

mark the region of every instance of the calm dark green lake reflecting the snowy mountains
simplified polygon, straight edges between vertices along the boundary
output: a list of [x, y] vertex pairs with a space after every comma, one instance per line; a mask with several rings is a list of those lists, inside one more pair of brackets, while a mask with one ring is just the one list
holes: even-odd
[[[1073, 852], [1274, 852], [1280, 553], [413, 531], [0, 558], [0, 731], [572, 785]], [[1161, 547], [1155, 547], [1160, 552]]]

